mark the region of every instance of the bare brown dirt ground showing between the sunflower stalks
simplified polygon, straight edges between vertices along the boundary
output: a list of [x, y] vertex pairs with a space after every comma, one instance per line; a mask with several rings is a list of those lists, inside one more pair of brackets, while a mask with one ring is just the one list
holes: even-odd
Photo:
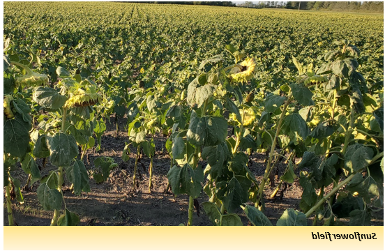
[[[114, 118], [111, 118], [111, 122]], [[148, 192], [149, 186], [149, 158], [143, 155], [142, 165], [138, 165], [139, 182], [137, 189], [132, 189], [133, 169], [135, 165], [136, 149], [131, 148], [130, 160], [123, 162], [121, 155], [125, 142], [128, 141], [128, 135], [124, 129], [127, 120], [119, 120], [119, 137], [116, 137], [114, 124], [106, 123], [107, 131], [102, 137], [102, 150], [95, 153], [90, 149], [84, 158], [84, 164], [87, 169], [93, 168], [93, 160], [99, 156], [108, 156], [114, 158], [118, 167], [112, 170], [107, 182], [96, 184], [93, 178], [90, 178], [91, 192], [82, 193], [76, 197], [70, 192], [70, 183], [66, 181], [63, 185], [63, 195], [66, 206], [70, 211], [80, 215], [80, 225], [104, 226], [104, 225], [145, 225], [145, 226], [169, 226], [186, 225], [188, 220], [188, 196], [179, 195], [174, 197], [171, 192], [165, 193], [167, 187], [167, 172], [169, 171], [169, 155], [165, 149], [167, 137], [157, 135], [154, 138], [156, 144], [156, 158], [153, 158], [153, 189], [151, 194]], [[252, 165], [250, 170], [255, 174], [257, 180], [261, 180], [264, 174], [264, 153], [254, 153], [252, 155]], [[41, 160], [38, 160], [41, 165]], [[278, 176], [285, 171], [285, 164], [279, 163]], [[41, 170], [42, 176], [48, 174], [50, 170], [55, 169], [49, 163]], [[296, 170], [298, 174], [298, 170]], [[20, 179], [22, 184], [27, 181], [27, 175], [22, 169], [18, 169], [13, 176]], [[278, 176], [275, 176], [275, 185], [278, 185]], [[17, 225], [50, 225], [53, 216], [52, 211], [44, 211], [39, 204], [36, 190], [38, 182], [33, 184], [30, 191], [23, 191], [24, 204], [20, 205], [13, 201], [13, 215]], [[301, 186], [298, 181], [287, 188], [280, 199], [280, 192], [275, 199], [270, 199], [271, 193], [275, 188], [268, 186], [265, 192], [265, 211], [266, 216], [273, 225], [280, 218], [280, 215], [287, 208], [299, 210], [301, 201]], [[282, 188], [281, 188], [282, 190]], [[5, 194], [5, 192], [4, 192]], [[208, 201], [208, 197], [202, 192], [197, 200], [199, 203]], [[250, 204], [252, 205], [252, 204]], [[250, 225], [246, 215], [241, 208], [236, 212], [241, 217], [243, 225]], [[384, 225], [384, 210], [379, 208], [372, 219], [372, 225]], [[3, 199], [3, 218], [4, 225], [8, 224], [5, 197]], [[200, 207], [199, 217], [194, 213], [193, 225], [206, 226], [211, 225], [209, 218], [204, 214], [202, 206]], [[312, 219], [308, 220], [308, 225], [312, 225]]]

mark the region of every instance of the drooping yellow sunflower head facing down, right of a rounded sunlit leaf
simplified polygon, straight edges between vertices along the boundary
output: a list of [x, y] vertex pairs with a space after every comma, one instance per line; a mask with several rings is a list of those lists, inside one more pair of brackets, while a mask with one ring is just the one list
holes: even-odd
[[96, 92], [96, 86], [88, 85], [83, 88], [79, 88], [73, 93], [70, 93], [70, 98], [66, 101], [64, 107], [86, 107], [95, 105], [102, 100], [102, 96]]

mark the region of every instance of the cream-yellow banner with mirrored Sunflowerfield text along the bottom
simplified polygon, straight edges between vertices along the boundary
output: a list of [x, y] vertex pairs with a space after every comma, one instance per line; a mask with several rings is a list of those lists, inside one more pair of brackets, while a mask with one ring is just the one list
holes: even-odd
[[384, 250], [384, 227], [3, 227], [4, 250]]

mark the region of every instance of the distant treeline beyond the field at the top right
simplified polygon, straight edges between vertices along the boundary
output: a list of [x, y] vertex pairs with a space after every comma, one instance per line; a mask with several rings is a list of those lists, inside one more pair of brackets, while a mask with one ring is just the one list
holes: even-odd
[[383, 1], [246, 1], [237, 4], [246, 8], [287, 8], [301, 10], [329, 10], [367, 13], [384, 13]]

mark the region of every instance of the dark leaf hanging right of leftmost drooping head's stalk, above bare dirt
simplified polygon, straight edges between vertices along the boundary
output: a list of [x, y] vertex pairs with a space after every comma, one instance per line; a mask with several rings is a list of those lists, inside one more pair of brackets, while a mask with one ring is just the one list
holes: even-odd
[[91, 192], [89, 187], [89, 176], [82, 160], [75, 160], [73, 166], [66, 168], [66, 176], [70, 183], [73, 183], [75, 195], [83, 192]]

